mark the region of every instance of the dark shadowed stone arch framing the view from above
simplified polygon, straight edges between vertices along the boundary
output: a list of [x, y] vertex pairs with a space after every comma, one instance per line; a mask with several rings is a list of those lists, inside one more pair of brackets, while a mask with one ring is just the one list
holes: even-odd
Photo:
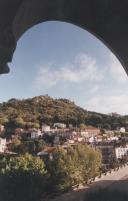
[[48, 20], [88, 30], [128, 72], [127, 0], [0, 0], [0, 63], [11, 62], [16, 42], [27, 29]]

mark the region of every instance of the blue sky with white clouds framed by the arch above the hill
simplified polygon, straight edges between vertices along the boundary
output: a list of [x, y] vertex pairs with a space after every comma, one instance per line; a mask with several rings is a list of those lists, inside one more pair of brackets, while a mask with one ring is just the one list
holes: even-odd
[[89, 111], [128, 114], [128, 78], [112, 52], [75, 25], [44, 22], [20, 38], [0, 102], [48, 94]]

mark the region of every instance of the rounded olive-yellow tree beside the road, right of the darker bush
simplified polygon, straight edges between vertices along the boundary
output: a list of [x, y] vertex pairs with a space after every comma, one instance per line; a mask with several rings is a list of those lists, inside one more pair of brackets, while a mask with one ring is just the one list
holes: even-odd
[[67, 151], [59, 147], [46, 167], [51, 190], [65, 191], [98, 175], [101, 154], [87, 145], [78, 145], [75, 149], [68, 147]]

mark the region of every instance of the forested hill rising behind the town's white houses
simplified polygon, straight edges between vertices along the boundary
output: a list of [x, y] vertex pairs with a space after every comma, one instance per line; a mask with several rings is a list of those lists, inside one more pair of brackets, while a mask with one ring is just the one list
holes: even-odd
[[6, 127], [40, 127], [42, 123], [52, 125], [55, 122], [67, 126], [79, 126], [81, 123], [101, 128], [126, 126], [128, 117], [89, 112], [67, 99], [53, 99], [46, 96], [17, 100], [10, 99], [0, 104], [0, 124]]

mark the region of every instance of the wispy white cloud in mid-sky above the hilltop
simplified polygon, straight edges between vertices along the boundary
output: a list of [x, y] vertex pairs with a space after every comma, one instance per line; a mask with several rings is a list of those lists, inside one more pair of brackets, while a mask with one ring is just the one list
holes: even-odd
[[80, 54], [74, 62], [55, 68], [54, 65], [41, 66], [35, 79], [36, 88], [51, 88], [62, 82], [81, 83], [101, 80], [96, 60]]

